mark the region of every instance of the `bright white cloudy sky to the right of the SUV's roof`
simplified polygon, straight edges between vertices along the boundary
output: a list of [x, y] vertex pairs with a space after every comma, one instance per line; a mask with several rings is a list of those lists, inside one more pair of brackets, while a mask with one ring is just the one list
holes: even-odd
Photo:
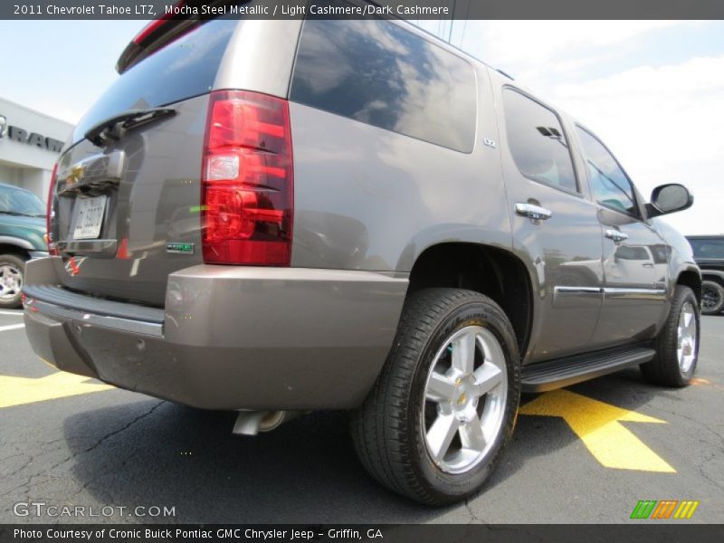
[[[470, 21], [462, 45], [584, 122], [644, 196], [663, 183], [689, 186], [695, 205], [666, 217], [682, 233], [724, 233], [724, 52], [681, 62], [679, 47], [680, 61], [666, 62], [672, 50], [656, 47], [706, 24]], [[687, 43], [696, 45], [708, 50]]]

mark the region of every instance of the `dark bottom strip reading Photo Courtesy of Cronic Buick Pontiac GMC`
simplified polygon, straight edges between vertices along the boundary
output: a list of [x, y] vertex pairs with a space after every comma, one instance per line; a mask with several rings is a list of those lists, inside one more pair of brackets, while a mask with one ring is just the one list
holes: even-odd
[[643, 521], [631, 525], [0, 525], [0, 543], [667, 543], [724, 538], [724, 527]]

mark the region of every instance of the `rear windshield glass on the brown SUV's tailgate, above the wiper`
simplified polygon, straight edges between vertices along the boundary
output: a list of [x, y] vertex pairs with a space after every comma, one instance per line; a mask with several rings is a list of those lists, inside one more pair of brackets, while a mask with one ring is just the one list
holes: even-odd
[[126, 71], [81, 119], [73, 143], [122, 111], [157, 108], [210, 91], [237, 23], [228, 19], [206, 23]]

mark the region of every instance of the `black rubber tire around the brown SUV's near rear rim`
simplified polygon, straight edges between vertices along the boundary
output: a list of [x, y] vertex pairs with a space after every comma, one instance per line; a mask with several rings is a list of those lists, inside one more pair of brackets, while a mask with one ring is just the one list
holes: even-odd
[[[500, 405], [502, 419], [497, 435], [486, 440], [492, 443], [490, 448], [483, 449], [470, 470], [450, 473], [433, 462], [425, 443], [425, 385], [433, 362], [440, 360], [435, 355], [443, 352], [447, 339], [470, 326], [489, 330], [497, 340], [505, 358], [507, 380], [507, 387], [500, 386], [507, 395]], [[357, 455], [377, 481], [413, 500], [434, 506], [463, 500], [480, 491], [499, 461], [515, 426], [519, 397], [518, 345], [503, 310], [474, 291], [416, 291], [405, 301], [395, 343], [381, 375], [365, 403], [352, 414]], [[460, 439], [458, 431], [454, 432]]]

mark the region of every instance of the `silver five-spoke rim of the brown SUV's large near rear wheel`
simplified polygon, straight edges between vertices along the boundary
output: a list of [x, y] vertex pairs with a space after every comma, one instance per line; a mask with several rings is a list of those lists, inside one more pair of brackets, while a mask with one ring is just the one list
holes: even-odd
[[443, 343], [424, 387], [422, 433], [443, 472], [468, 472], [495, 444], [505, 416], [505, 355], [491, 330], [469, 326]]

